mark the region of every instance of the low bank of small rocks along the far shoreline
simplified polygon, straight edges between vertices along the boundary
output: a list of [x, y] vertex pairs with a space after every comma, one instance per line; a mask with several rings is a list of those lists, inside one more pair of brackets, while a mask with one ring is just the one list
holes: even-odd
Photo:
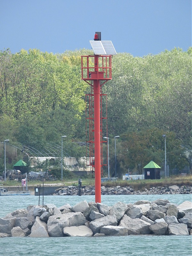
[[[168, 187], [152, 187], [150, 189], [144, 188], [143, 190], [135, 191], [131, 186], [128, 187], [101, 187], [101, 195], [167, 195], [167, 194], [192, 194], [192, 187], [176, 185]], [[78, 195], [78, 187], [68, 186], [58, 188], [53, 195], [60, 196], [76, 196]], [[83, 186], [82, 195], [95, 195], [94, 186]]]

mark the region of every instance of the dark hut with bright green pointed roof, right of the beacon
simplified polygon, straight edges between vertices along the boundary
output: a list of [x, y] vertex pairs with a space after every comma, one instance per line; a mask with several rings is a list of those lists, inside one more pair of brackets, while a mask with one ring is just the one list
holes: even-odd
[[160, 169], [161, 167], [155, 162], [151, 161], [145, 167], [144, 177], [145, 180], [159, 180], [160, 179]]

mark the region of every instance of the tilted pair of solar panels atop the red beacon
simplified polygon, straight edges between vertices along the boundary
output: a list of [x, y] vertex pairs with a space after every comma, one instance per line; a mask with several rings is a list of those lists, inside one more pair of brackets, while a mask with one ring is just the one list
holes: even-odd
[[111, 41], [90, 41], [96, 55], [117, 55]]

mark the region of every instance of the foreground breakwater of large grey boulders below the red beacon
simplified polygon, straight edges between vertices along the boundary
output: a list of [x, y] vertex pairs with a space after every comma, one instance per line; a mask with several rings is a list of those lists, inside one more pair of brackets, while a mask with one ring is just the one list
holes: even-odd
[[0, 218], [0, 237], [192, 235], [192, 203], [168, 200], [118, 202], [113, 206], [82, 201], [74, 205], [30, 205]]

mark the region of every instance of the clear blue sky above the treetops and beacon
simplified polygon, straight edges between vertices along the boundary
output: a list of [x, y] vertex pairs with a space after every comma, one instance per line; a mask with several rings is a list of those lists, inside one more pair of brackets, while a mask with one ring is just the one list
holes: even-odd
[[0, 0], [0, 50], [91, 49], [95, 31], [133, 56], [191, 46], [191, 0]]

